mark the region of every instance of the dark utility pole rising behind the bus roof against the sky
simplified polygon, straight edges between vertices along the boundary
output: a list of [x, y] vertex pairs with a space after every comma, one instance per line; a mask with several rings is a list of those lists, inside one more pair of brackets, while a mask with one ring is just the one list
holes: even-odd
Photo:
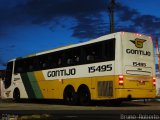
[[115, 0], [111, 0], [110, 5], [108, 6], [110, 33], [114, 33], [114, 6], [115, 6]]

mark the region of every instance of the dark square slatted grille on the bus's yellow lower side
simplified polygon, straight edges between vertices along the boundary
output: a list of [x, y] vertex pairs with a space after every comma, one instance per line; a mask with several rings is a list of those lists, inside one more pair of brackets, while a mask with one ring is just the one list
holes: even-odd
[[98, 96], [113, 96], [113, 82], [99, 81], [98, 82]]

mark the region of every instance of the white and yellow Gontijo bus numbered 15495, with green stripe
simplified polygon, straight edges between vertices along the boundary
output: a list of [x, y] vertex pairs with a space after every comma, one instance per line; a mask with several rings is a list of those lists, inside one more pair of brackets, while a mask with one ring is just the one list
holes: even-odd
[[90, 100], [155, 97], [151, 37], [117, 32], [8, 62], [5, 98]]

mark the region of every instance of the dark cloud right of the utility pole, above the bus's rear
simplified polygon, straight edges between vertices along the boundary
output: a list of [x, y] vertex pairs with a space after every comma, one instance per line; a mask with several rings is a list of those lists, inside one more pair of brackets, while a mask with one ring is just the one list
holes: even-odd
[[157, 29], [160, 27], [160, 18], [152, 15], [143, 15], [136, 9], [131, 9], [120, 3], [117, 3], [115, 11], [118, 16], [118, 21], [116, 21], [117, 31], [125, 30], [156, 36], [160, 34], [160, 30]]

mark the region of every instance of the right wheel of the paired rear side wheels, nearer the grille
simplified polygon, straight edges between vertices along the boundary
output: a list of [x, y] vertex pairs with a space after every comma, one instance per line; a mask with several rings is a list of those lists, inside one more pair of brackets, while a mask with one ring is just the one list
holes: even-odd
[[91, 102], [91, 95], [88, 87], [84, 86], [78, 91], [80, 105], [89, 105]]

